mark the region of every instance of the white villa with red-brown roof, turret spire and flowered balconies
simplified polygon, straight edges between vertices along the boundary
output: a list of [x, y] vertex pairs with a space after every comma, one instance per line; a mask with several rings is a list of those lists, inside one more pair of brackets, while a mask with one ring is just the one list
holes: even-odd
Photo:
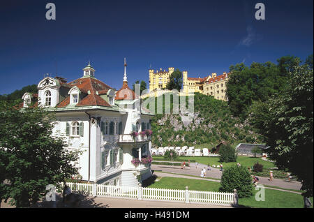
[[[24, 94], [24, 107], [32, 96]], [[149, 129], [154, 114], [141, 109], [138, 96], [128, 87], [126, 60], [119, 91], [96, 79], [95, 69], [88, 64], [82, 77], [72, 82], [61, 77], [41, 80], [38, 106], [55, 112], [54, 136], [65, 137], [67, 149], [83, 151], [77, 163], [73, 163], [80, 167], [83, 180], [137, 186], [151, 177], [150, 163], [131, 163], [133, 158], [143, 161], [151, 156]], [[130, 135], [145, 130], [145, 135]]]

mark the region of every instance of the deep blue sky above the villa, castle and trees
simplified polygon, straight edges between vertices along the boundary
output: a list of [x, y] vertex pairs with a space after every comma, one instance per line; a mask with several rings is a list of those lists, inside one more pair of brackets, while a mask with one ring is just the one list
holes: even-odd
[[[57, 20], [46, 20], [46, 3]], [[255, 20], [255, 3], [266, 20]], [[222, 74], [232, 64], [313, 54], [313, 0], [1, 1], [0, 94], [38, 84], [45, 73], [68, 81], [91, 61], [95, 76], [119, 89], [149, 81], [148, 69], [189, 77]]]

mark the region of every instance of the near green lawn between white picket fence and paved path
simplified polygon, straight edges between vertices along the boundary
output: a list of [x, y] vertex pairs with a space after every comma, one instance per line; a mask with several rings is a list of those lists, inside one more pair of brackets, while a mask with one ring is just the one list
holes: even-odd
[[[160, 178], [159, 178], [160, 179]], [[151, 188], [170, 188], [170, 189], [185, 189], [186, 186], [190, 190], [195, 191], [219, 191], [220, 183], [204, 181], [200, 179], [185, 179], [174, 177], [161, 177], [158, 182], [154, 182], [149, 187]], [[265, 188], [265, 201], [256, 201], [255, 193], [250, 198], [240, 198], [239, 205], [243, 207], [258, 207], [258, 208], [302, 208], [303, 197], [297, 193], [289, 193], [284, 191], [276, 191]], [[311, 198], [313, 203], [313, 198]], [[312, 205], [313, 208], [313, 205]]]

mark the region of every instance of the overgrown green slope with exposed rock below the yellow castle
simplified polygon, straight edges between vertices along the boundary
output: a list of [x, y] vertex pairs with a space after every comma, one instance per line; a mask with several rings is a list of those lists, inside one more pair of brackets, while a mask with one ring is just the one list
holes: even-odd
[[[186, 101], [188, 101], [187, 97]], [[172, 100], [170, 107], [172, 108]], [[157, 109], [157, 103], [155, 108]], [[218, 101], [212, 96], [195, 94], [194, 112], [200, 112], [198, 118], [203, 119], [200, 125], [192, 122], [190, 126], [183, 127], [177, 132], [174, 131], [174, 126], [169, 119], [165, 121], [165, 125], [159, 126], [157, 121], [164, 118], [165, 114], [156, 114], [151, 125], [154, 131], [153, 145], [156, 147], [186, 145], [212, 148], [221, 141], [227, 141], [232, 145], [237, 145], [239, 142], [262, 143], [262, 136], [257, 135], [253, 127], [232, 117], [225, 101]], [[179, 114], [172, 114], [172, 117], [182, 124]], [[195, 129], [192, 130], [192, 128]], [[179, 140], [175, 139], [177, 135], [180, 137]]]

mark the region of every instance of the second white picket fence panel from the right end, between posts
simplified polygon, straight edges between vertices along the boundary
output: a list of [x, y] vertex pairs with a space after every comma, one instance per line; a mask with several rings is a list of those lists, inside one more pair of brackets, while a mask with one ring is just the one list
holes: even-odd
[[142, 199], [184, 202], [186, 195], [184, 190], [142, 188]]

